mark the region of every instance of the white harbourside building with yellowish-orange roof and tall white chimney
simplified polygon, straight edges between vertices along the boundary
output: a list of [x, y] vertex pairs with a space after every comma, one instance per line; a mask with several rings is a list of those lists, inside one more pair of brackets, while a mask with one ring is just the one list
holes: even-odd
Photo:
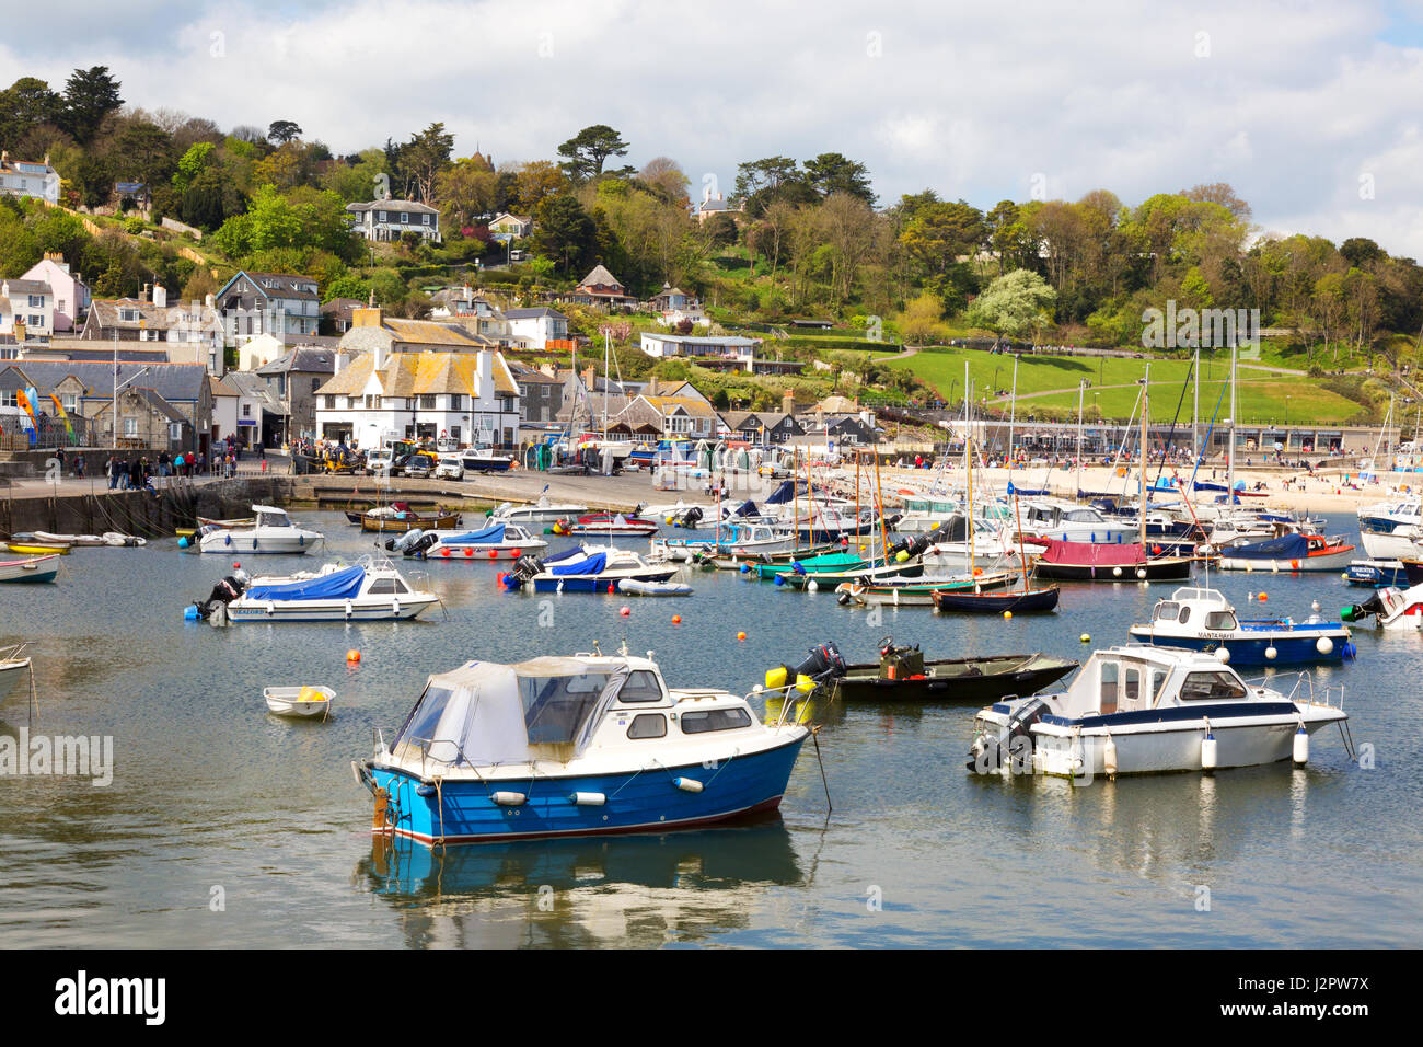
[[518, 383], [504, 355], [490, 349], [406, 353], [381, 346], [340, 365], [316, 390], [317, 434], [361, 447], [397, 437], [508, 447], [518, 427]]

